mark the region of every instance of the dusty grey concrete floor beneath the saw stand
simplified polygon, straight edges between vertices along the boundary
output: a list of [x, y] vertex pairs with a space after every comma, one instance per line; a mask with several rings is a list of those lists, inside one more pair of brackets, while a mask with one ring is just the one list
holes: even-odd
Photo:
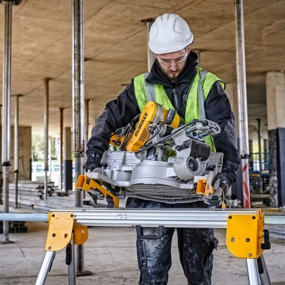
[[[28, 233], [10, 235], [13, 244], [0, 245], [0, 284], [34, 284], [44, 257], [44, 246], [48, 224], [28, 222]], [[212, 284], [248, 284], [245, 260], [231, 255], [225, 244], [225, 230], [216, 230], [219, 239], [218, 250], [214, 251]], [[173, 240], [173, 265], [169, 284], [187, 284], [178, 258], [177, 238]], [[91, 227], [89, 238], [84, 245], [85, 269], [93, 272], [91, 276], [77, 278], [77, 285], [116, 284], [132, 285], [138, 283], [135, 250], [135, 230], [127, 227]], [[274, 285], [285, 284], [285, 241], [271, 239], [271, 249], [265, 251], [269, 275]], [[52, 270], [46, 284], [67, 284], [65, 250], [56, 254]]]

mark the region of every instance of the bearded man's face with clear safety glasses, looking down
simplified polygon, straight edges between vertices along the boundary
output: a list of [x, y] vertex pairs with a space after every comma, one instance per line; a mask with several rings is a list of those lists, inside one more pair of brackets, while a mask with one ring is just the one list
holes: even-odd
[[186, 58], [190, 53], [190, 46], [187, 48], [167, 54], [155, 54], [161, 71], [172, 82], [176, 82], [178, 75], [186, 66]]

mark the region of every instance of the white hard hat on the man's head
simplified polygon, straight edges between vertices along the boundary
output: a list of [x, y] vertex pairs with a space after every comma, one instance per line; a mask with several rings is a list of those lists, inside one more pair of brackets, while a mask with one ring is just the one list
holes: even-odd
[[167, 13], [152, 25], [149, 47], [155, 54], [177, 52], [192, 44], [193, 39], [187, 22], [176, 14]]

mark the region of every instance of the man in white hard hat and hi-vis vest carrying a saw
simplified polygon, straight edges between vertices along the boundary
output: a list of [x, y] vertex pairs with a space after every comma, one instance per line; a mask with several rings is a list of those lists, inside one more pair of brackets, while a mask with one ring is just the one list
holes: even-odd
[[[155, 86], [156, 101], [164, 108], [175, 109], [185, 119], [185, 123], [200, 119], [204, 114], [207, 119], [220, 125], [221, 132], [213, 136], [213, 140], [209, 137], [207, 141], [212, 151], [224, 153], [222, 172], [213, 181], [216, 191], [209, 197], [204, 197], [204, 203], [200, 201], [173, 205], [129, 198], [126, 207], [215, 208], [222, 203], [228, 187], [236, 180], [240, 161], [234, 116], [224, 91], [225, 84], [214, 74], [198, 67], [198, 56], [190, 48], [192, 43], [193, 34], [184, 19], [176, 14], [164, 14], [156, 19], [149, 38], [149, 47], [156, 59], [151, 72], [133, 78], [117, 99], [106, 104], [87, 144], [86, 169], [92, 171], [100, 166], [102, 154], [109, 147], [111, 133], [127, 125], [140, 113], [150, 98], [148, 88]], [[197, 97], [199, 84], [205, 101], [202, 108], [199, 108]], [[140, 285], [167, 284], [174, 231], [174, 228], [165, 228], [163, 237], [156, 240], [137, 237]], [[144, 235], [156, 233], [156, 228], [143, 228]], [[211, 284], [212, 251], [218, 245], [213, 229], [178, 228], [177, 234], [180, 261], [188, 283]]]

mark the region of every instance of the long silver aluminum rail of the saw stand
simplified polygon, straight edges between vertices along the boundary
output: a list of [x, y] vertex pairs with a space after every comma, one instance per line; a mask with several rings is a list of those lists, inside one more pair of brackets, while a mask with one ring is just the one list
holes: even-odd
[[[71, 212], [74, 224], [84, 226], [133, 226], [226, 228], [229, 215], [255, 215], [254, 210], [185, 209], [56, 209], [52, 213]], [[2, 221], [48, 221], [48, 214], [0, 213]], [[285, 215], [264, 215], [264, 224], [285, 225]]]

